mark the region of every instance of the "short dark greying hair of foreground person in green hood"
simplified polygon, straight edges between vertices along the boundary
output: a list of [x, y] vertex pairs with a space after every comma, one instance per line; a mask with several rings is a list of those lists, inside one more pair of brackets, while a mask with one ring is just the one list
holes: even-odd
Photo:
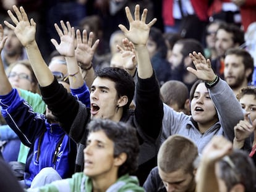
[[114, 143], [114, 157], [122, 152], [126, 153], [127, 159], [119, 167], [118, 176], [126, 173], [134, 173], [138, 167], [139, 140], [137, 132], [132, 125], [124, 122], [113, 122], [109, 119], [94, 119], [88, 124], [89, 134], [103, 130], [109, 140]]

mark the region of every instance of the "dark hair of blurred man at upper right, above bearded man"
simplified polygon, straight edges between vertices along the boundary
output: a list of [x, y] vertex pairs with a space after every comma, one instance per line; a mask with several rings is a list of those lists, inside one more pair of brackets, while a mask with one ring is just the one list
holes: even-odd
[[220, 27], [218, 30], [224, 30], [227, 31], [228, 33], [232, 33], [232, 39], [234, 43], [238, 43], [239, 45], [243, 44], [244, 41], [244, 31], [241, 30], [237, 25], [233, 23], [221, 23]]

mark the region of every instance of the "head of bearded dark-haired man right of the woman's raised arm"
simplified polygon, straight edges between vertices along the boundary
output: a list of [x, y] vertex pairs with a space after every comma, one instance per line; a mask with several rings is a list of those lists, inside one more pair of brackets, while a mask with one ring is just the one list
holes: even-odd
[[224, 79], [237, 95], [252, 81], [254, 59], [244, 49], [228, 49], [224, 66]]

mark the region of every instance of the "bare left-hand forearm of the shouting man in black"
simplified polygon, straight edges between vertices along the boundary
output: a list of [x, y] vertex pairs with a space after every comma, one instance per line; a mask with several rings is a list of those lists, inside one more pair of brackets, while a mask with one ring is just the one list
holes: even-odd
[[40, 86], [50, 85], [54, 80], [54, 76], [53, 73], [51, 73], [49, 70], [48, 65], [46, 65], [45, 61], [43, 60], [36, 41], [28, 44], [28, 46], [25, 48], [27, 51], [28, 59], [32, 65], [32, 69]]

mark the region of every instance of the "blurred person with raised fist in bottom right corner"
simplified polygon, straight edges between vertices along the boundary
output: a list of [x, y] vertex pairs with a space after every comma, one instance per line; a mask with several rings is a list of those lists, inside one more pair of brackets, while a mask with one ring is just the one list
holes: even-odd
[[203, 150], [197, 171], [197, 192], [254, 192], [254, 162], [223, 136], [215, 136]]

